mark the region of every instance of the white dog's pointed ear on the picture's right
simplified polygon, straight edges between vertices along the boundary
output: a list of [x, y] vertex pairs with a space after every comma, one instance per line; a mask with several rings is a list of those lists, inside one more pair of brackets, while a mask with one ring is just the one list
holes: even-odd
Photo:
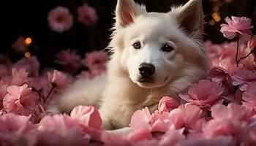
[[201, 0], [189, 0], [182, 7], [173, 8], [170, 12], [179, 26], [193, 39], [203, 38], [203, 7]]

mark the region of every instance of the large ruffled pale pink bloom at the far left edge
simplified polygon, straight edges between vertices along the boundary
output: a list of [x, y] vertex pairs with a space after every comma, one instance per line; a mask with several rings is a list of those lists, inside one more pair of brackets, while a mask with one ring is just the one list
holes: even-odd
[[4, 110], [18, 115], [34, 115], [38, 98], [36, 95], [26, 84], [9, 86], [3, 99]]

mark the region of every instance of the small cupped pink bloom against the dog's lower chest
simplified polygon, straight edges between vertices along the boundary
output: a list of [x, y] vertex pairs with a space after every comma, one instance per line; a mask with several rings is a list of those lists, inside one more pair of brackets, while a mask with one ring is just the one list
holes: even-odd
[[170, 112], [178, 107], [178, 103], [175, 99], [165, 96], [159, 101], [158, 110], [159, 112]]

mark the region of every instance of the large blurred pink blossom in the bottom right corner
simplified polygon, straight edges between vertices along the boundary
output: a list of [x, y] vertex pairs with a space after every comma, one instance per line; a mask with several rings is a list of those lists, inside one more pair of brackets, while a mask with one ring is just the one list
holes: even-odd
[[206, 137], [232, 136], [236, 144], [249, 145], [251, 139], [248, 133], [248, 124], [252, 120], [252, 110], [248, 107], [230, 103], [217, 104], [211, 108], [213, 120], [203, 127]]

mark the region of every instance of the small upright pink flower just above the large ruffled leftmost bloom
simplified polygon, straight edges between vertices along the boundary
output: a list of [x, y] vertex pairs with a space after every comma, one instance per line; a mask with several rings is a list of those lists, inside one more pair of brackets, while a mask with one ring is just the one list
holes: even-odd
[[12, 69], [11, 85], [23, 85], [28, 79], [28, 72], [25, 69]]

